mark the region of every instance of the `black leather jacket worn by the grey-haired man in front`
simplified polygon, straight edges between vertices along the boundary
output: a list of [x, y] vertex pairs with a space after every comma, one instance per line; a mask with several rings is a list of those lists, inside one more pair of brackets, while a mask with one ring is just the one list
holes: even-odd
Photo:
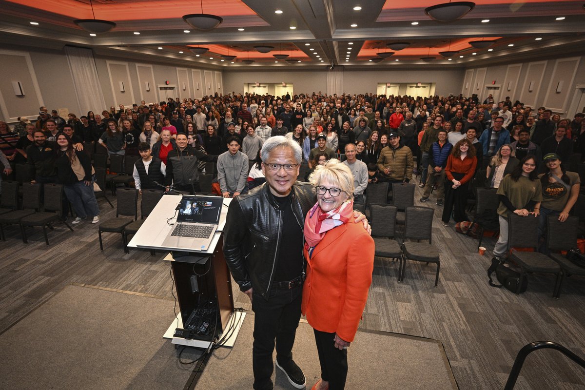
[[[303, 229], [305, 216], [316, 202], [315, 189], [311, 184], [297, 181], [292, 186], [291, 196], [298, 222], [294, 229]], [[283, 211], [278, 209], [267, 183], [246, 195], [236, 196], [230, 203], [223, 233], [223, 254], [241, 291], [253, 288], [256, 294], [268, 300], [280, 249], [282, 218]], [[298, 244], [302, 250], [303, 243]], [[302, 268], [304, 271], [304, 260]]]

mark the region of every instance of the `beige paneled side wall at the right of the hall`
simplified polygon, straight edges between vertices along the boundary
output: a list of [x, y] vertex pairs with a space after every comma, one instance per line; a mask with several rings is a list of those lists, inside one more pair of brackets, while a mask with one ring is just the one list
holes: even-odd
[[[468, 80], [470, 88], [476, 88], [479, 82], [480, 89], [466, 89]], [[519, 100], [533, 108], [545, 106], [561, 116], [572, 118], [576, 109], [573, 100], [585, 89], [585, 60], [582, 56], [551, 58], [487, 68], [468, 68], [461, 92], [465, 96], [476, 93], [483, 101], [488, 93], [486, 87], [493, 85], [493, 82], [500, 85], [500, 101], [505, 96], [510, 96], [512, 102]]]

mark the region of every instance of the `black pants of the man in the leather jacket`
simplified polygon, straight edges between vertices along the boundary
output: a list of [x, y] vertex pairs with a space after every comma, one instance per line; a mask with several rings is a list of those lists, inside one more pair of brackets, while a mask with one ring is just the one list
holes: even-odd
[[274, 363], [272, 353], [276, 340], [276, 360], [283, 365], [292, 360], [292, 344], [301, 319], [302, 285], [291, 289], [275, 289], [270, 292], [268, 301], [256, 294], [252, 300], [254, 311], [254, 344], [252, 347], [252, 367], [254, 389], [273, 388], [272, 372]]

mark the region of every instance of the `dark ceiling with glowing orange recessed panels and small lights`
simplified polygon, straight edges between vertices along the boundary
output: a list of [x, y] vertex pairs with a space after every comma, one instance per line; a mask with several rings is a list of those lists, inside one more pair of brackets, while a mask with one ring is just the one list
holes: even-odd
[[[92, 14], [90, 0], [0, 0], [0, 39], [48, 49], [92, 47], [106, 56], [162, 63], [258, 70], [331, 64], [468, 67], [583, 54], [583, 0], [476, 0], [472, 11], [451, 23], [425, 15], [426, 7], [441, 1], [446, 0], [92, 0]], [[354, 10], [356, 6], [361, 9]], [[182, 19], [200, 12], [221, 16], [223, 23], [201, 32]], [[116, 27], [92, 37], [73, 23], [92, 15]], [[565, 19], [556, 20], [561, 17]], [[474, 40], [495, 43], [474, 49], [469, 44]], [[404, 50], [387, 47], [394, 42], [410, 45]], [[274, 49], [260, 53], [254, 49], [259, 45]], [[209, 51], [196, 56], [189, 48], [197, 46]], [[394, 54], [380, 60], [377, 54], [385, 51]], [[444, 58], [440, 51], [457, 54]], [[228, 54], [235, 60], [223, 60], [221, 55]], [[276, 60], [273, 54], [289, 57]]]

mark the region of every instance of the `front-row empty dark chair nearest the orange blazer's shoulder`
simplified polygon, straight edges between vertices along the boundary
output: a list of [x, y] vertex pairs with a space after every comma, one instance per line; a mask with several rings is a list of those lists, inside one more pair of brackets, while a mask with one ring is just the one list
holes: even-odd
[[[398, 208], [393, 205], [370, 206], [371, 236], [376, 247], [374, 256], [388, 257], [392, 260], [400, 258], [400, 243], [394, 240], [397, 211]], [[400, 262], [401, 264], [402, 262]], [[400, 275], [400, 267], [398, 275]]]

